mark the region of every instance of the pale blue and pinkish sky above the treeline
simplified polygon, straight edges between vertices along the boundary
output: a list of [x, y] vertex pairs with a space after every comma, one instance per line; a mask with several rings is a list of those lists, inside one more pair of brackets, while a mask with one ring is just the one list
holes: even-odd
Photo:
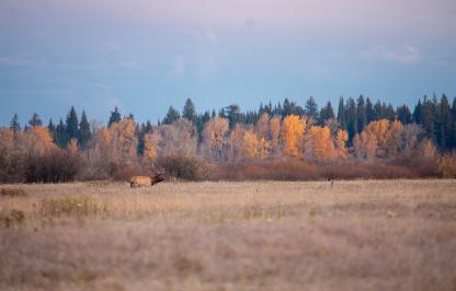
[[[0, 126], [456, 96], [454, 0], [0, 0]], [[334, 104], [335, 103], [335, 104]]]

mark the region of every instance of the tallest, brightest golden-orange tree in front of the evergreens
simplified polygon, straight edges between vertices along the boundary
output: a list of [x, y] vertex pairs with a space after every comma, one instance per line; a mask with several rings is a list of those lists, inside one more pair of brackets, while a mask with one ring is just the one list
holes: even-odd
[[300, 156], [299, 144], [306, 129], [306, 119], [297, 115], [288, 115], [282, 123], [282, 153], [286, 156]]

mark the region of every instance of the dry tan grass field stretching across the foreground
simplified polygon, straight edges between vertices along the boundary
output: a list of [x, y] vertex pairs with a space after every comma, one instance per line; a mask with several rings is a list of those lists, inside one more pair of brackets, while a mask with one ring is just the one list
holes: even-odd
[[456, 181], [0, 188], [0, 290], [456, 290]]

